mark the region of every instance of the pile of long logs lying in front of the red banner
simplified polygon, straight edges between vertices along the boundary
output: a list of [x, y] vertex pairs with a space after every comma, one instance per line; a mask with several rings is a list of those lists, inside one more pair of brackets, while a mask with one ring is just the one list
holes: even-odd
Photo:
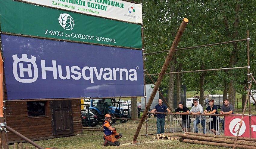
[[[185, 143], [194, 143], [201, 145], [214, 145], [220, 147], [233, 148], [236, 137], [232, 136], [221, 136], [213, 134], [200, 134], [200, 133], [180, 133], [178, 135], [180, 141]], [[256, 149], [256, 139], [255, 138], [244, 138], [238, 137], [236, 142], [236, 148], [254, 148]]]

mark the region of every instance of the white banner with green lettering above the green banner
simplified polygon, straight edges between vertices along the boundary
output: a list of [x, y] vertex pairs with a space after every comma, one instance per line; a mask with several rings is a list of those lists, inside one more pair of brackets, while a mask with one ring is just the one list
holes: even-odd
[[122, 0], [21, 0], [120, 21], [142, 24], [142, 5]]

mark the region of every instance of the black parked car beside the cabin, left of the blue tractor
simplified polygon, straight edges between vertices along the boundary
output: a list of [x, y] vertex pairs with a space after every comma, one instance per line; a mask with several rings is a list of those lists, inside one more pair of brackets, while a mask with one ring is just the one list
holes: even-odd
[[98, 124], [98, 119], [95, 114], [92, 112], [82, 112], [82, 125], [83, 127], [89, 126], [89, 127], [95, 127]]

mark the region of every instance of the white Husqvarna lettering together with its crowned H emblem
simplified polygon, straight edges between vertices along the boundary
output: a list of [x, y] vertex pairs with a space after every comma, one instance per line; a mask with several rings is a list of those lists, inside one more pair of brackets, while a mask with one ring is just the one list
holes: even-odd
[[[12, 70], [14, 77], [21, 83], [32, 83], [38, 78], [38, 74], [42, 74], [42, 79], [53, 78], [61, 80], [90, 80], [90, 83], [94, 83], [94, 80], [130, 80], [137, 81], [136, 69], [127, 70], [125, 68], [96, 68], [96, 67], [79, 67], [79, 66], [61, 66], [57, 65], [56, 60], [52, 60], [46, 65], [45, 60], [41, 60], [41, 71], [39, 72], [36, 65], [36, 57], [31, 56], [31, 59], [27, 58], [27, 54], [21, 54], [22, 57], [18, 58], [17, 54], [13, 55], [14, 60]], [[39, 64], [40, 65], [40, 64]], [[32, 69], [33, 68], [33, 69]], [[18, 73], [19, 72], [19, 73]], [[25, 73], [24, 73], [25, 72]], [[46, 73], [50, 72], [50, 73]], [[41, 76], [40, 74], [40, 76]], [[52, 74], [52, 75], [51, 75]], [[63, 75], [65, 74], [65, 76]], [[28, 75], [25, 76], [25, 75]]]

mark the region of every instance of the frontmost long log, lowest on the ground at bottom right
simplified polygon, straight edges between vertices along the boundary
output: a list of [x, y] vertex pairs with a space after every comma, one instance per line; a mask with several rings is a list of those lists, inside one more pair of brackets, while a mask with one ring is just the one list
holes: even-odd
[[[208, 141], [198, 141], [198, 140], [190, 140], [190, 139], [180, 139], [180, 141], [183, 141], [185, 143], [194, 143], [194, 144], [201, 144], [201, 145], [213, 145], [213, 146], [220, 146], [220, 147], [229, 147], [232, 148], [233, 144], [228, 143], [217, 143], [217, 142], [208, 142]], [[255, 149], [253, 146], [248, 145], [236, 145], [236, 148], [247, 148], [247, 149]]]

